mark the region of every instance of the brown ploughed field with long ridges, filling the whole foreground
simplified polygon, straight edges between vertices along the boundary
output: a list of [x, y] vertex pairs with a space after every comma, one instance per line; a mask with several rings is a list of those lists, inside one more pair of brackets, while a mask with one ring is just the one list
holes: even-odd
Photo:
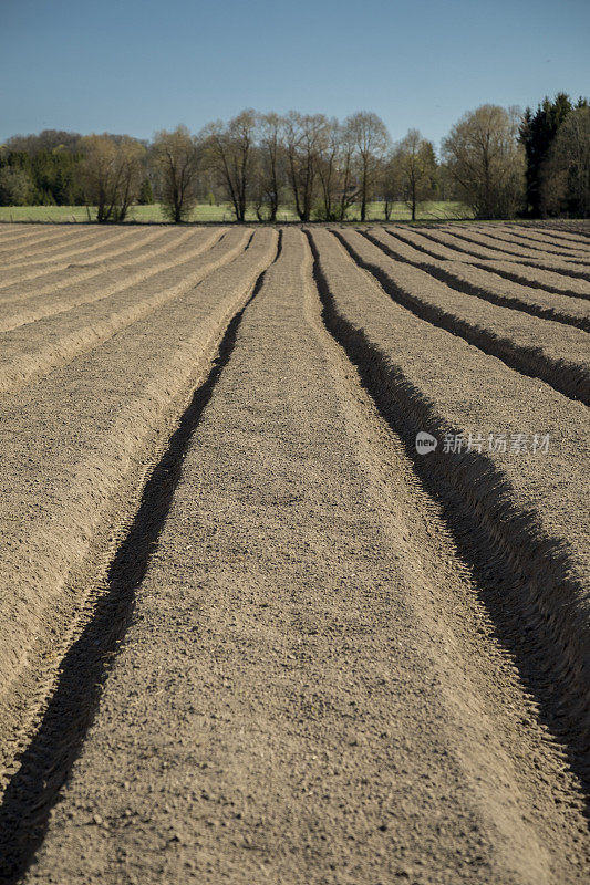
[[590, 232], [0, 226], [0, 882], [587, 883]]

